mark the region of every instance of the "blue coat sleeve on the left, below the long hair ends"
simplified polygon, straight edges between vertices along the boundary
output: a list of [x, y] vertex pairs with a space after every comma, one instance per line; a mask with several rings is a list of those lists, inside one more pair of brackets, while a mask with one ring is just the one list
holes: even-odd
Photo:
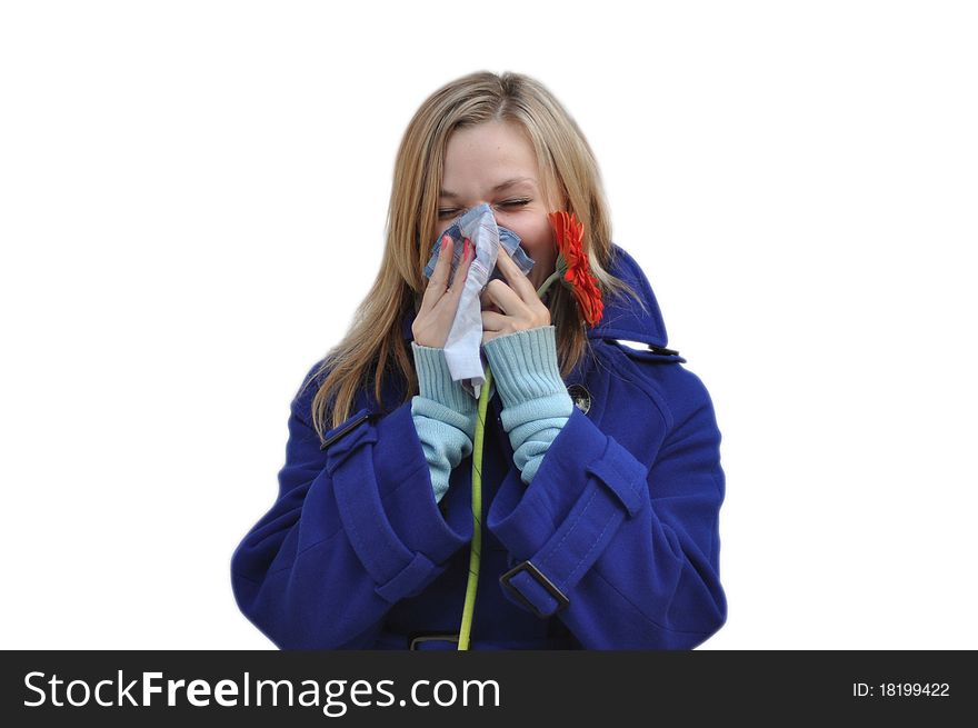
[[390, 608], [471, 539], [435, 502], [410, 402], [369, 415], [322, 451], [308, 398], [293, 399], [278, 498], [231, 558], [239, 608], [279, 648], [371, 648]]

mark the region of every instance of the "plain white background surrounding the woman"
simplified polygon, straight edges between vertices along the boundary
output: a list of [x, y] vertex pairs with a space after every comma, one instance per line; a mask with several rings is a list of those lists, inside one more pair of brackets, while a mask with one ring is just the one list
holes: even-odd
[[528, 73], [713, 398], [701, 649], [978, 648], [978, 23], [952, 2], [0, 6], [4, 648], [272, 648], [234, 547], [423, 99]]

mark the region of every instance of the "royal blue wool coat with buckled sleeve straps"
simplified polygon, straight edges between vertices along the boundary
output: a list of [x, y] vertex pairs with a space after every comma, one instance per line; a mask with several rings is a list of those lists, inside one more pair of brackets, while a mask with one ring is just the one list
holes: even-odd
[[[726, 621], [712, 402], [686, 359], [665, 348], [645, 275], [615, 252], [611, 271], [648, 311], [630, 298], [606, 301], [589, 330], [593, 357], [566, 379], [578, 406], [529, 488], [498, 392], [489, 403], [471, 649], [690, 649]], [[389, 378], [386, 412], [370, 389], [325, 450], [311, 427], [316, 387], [300, 389], [278, 499], [231, 559], [240, 609], [280, 648], [457, 647], [471, 457], [436, 503], [410, 401], [396, 406], [403, 382]]]

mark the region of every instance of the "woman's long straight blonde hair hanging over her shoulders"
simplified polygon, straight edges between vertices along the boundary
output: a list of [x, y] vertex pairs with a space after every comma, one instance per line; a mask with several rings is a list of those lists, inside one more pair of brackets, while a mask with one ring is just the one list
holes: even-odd
[[[383, 377], [390, 372], [407, 382], [401, 403], [418, 393], [402, 318], [408, 311], [417, 313], [428, 285], [423, 269], [437, 235], [438, 193], [449, 137], [456, 129], [487, 121], [516, 122], [526, 132], [537, 154], [545, 199], [561, 200], [563, 209], [583, 223], [583, 249], [606, 305], [608, 295], [628, 293], [645, 308], [628, 283], [606, 270], [611, 256], [608, 205], [597, 161], [577, 122], [547, 88], [527, 76], [488, 71], [463, 76], [420, 106], [401, 139], [380, 270], [346, 337], [307, 382], [328, 372], [312, 400], [313, 426], [320, 439], [349, 418], [358, 391], [369, 386], [371, 378], [381, 407]], [[547, 306], [557, 332], [560, 375], [567, 377], [589, 353], [590, 345], [573, 293], [557, 283], [550, 291]]]

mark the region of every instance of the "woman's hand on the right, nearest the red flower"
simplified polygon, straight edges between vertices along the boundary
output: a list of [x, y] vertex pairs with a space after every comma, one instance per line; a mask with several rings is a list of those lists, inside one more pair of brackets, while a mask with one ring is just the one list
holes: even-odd
[[482, 303], [482, 343], [507, 333], [550, 326], [550, 309], [502, 246], [499, 246], [497, 265], [509, 285], [498, 278], [490, 280], [479, 298]]

